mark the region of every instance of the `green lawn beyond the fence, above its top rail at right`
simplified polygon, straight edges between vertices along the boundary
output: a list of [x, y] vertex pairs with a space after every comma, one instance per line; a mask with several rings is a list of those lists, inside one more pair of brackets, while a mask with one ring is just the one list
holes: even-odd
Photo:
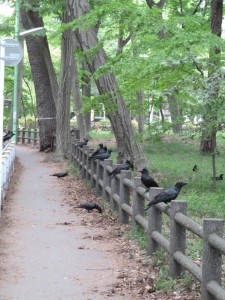
[[[225, 184], [217, 182], [212, 190], [212, 157], [199, 153], [199, 139], [168, 137], [145, 146], [149, 158], [149, 170], [160, 186], [167, 188], [177, 181], [188, 184], [178, 199], [188, 201], [188, 214], [203, 217], [225, 218]], [[223, 139], [218, 141], [220, 155], [216, 157], [217, 174], [225, 173]], [[192, 171], [197, 164], [199, 172]]]

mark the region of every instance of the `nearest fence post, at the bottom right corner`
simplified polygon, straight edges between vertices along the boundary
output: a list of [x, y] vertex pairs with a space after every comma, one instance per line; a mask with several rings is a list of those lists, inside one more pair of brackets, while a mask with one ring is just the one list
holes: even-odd
[[207, 291], [207, 284], [215, 281], [221, 285], [222, 275], [222, 255], [219, 250], [213, 248], [209, 242], [210, 234], [215, 233], [223, 237], [223, 220], [204, 219], [203, 220], [203, 257], [202, 257], [202, 286], [201, 300], [217, 299]]

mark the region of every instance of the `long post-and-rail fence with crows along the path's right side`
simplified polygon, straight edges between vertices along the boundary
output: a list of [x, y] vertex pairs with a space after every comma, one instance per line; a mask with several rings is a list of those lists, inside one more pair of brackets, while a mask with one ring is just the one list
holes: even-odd
[[[96, 194], [106, 199], [111, 210], [117, 210], [121, 224], [131, 222], [133, 226], [145, 229], [148, 239], [147, 253], [149, 255], [162, 247], [169, 255], [169, 275], [180, 277], [187, 270], [201, 284], [202, 300], [224, 300], [225, 289], [222, 284], [222, 255], [225, 255], [225, 240], [223, 239], [223, 220], [204, 219], [203, 226], [186, 215], [186, 201], [173, 200], [170, 207], [164, 203], [153, 205], [144, 214], [145, 200], [151, 201], [159, 194], [161, 188], [151, 188], [145, 193], [140, 177], [131, 179], [130, 171], [121, 171], [112, 180], [109, 172], [114, 167], [112, 160], [88, 161], [92, 152], [89, 147], [77, 147], [72, 144], [72, 162], [81, 171], [82, 178], [90, 180]], [[162, 234], [162, 214], [170, 218], [169, 239]], [[201, 266], [185, 255], [186, 232], [190, 231], [203, 240]]]

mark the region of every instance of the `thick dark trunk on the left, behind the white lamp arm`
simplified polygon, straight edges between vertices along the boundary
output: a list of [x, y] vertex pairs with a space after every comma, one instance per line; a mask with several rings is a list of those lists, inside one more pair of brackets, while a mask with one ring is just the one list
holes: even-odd
[[[43, 21], [37, 12], [31, 10], [21, 9], [21, 20], [26, 30], [43, 26]], [[51, 146], [52, 136], [56, 129], [56, 110], [46, 64], [46, 61], [49, 65], [51, 64], [51, 57], [46, 37], [26, 36], [26, 44], [37, 98], [40, 150], [42, 150]], [[48, 57], [46, 53], [43, 54], [43, 48], [47, 49]]]

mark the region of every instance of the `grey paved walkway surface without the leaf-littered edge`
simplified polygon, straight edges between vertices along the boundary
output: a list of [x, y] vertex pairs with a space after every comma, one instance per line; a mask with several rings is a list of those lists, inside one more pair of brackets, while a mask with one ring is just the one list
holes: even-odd
[[62, 204], [63, 189], [43, 155], [24, 146], [16, 155], [23, 170], [0, 219], [0, 300], [109, 299], [115, 258], [84, 239], [91, 229]]

